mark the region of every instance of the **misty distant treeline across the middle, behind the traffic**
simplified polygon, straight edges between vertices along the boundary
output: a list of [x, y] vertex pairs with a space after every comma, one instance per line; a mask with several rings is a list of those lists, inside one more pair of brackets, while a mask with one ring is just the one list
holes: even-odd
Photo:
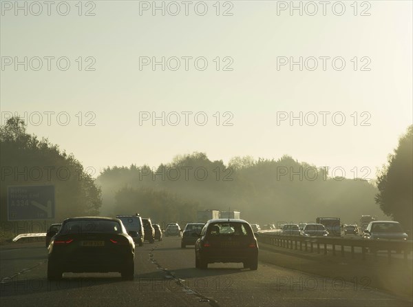
[[328, 169], [290, 156], [235, 157], [224, 165], [193, 153], [153, 169], [107, 167], [96, 184], [103, 191], [103, 215], [140, 212], [159, 222], [195, 220], [198, 209], [240, 210], [242, 218], [259, 223], [383, 216], [374, 202], [374, 184], [331, 178]]

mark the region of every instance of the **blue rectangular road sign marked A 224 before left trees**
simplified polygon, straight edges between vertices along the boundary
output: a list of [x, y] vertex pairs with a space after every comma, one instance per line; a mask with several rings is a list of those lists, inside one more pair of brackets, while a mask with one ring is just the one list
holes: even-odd
[[7, 191], [9, 221], [54, 218], [54, 186], [9, 186]]

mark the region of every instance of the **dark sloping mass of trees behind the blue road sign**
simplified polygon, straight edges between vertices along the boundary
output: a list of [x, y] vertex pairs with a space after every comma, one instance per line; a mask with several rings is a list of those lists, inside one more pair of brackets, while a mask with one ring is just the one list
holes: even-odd
[[[72, 154], [66, 154], [58, 145], [51, 144], [45, 138], [39, 140], [28, 134], [25, 123], [20, 118], [9, 118], [6, 124], [0, 127], [0, 148], [2, 226], [16, 229], [13, 225], [10, 226], [12, 223], [4, 223], [8, 220], [8, 186], [54, 185], [55, 221], [76, 215], [99, 213], [102, 197], [100, 188], [94, 184], [94, 178], [84, 171], [81, 163]], [[4, 229], [5, 227], [3, 231]], [[25, 226], [20, 223], [17, 229], [23, 232]], [[39, 231], [39, 227], [36, 230]]]

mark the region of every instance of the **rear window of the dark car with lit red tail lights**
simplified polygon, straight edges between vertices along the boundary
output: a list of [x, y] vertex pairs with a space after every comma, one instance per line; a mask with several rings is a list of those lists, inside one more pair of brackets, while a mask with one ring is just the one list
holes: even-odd
[[66, 233], [122, 233], [118, 222], [106, 220], [78, 220], [63, 224], [62, 234]]

